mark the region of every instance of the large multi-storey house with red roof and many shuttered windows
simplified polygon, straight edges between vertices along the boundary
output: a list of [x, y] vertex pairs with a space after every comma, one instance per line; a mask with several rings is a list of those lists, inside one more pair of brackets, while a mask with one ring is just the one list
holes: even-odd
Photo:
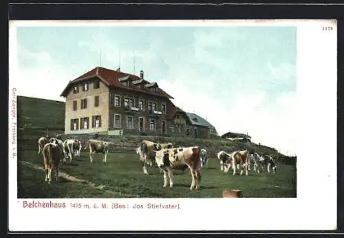
[[65, 97], [65, 134], [160, 135], [209, 138], [157, 83], [118, 70], [95, 67], [69, 81]]

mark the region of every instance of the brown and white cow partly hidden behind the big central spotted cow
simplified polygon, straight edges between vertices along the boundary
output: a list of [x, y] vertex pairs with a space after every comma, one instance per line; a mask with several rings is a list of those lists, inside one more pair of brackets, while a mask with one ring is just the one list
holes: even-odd
[[153, 165], [153, 158], [155, 152], [161, 149], [171, 149], [172, 143], [156, 143], [149, 140], [142, 140], [140, 147], [136, 149], [136, 153], [140, 155], [140, 162], [142, 162], [142, 169], [145, 175], [149, 175], [146, 164]]

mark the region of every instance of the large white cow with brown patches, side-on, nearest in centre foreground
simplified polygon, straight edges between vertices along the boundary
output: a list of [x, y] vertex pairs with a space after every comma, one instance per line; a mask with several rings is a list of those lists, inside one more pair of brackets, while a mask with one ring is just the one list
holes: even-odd
[[186, 164], [191, 172], [192, 183], [190, 190], [197, 190], [201, 182], [201, 149], [200, 147], [178, 147], [161, 149], [155, 153], [155, 162], [164, 171], [164, 185], [167, 186], [169, 177], [170, 187], [173, 187], [173, 167]]

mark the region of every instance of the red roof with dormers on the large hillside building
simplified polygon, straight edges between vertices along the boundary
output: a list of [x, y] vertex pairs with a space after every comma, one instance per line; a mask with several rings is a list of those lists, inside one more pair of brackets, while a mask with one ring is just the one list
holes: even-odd
[[[67, 94], [67, 90], [69, 89], [69, 87], [72, 86], [73, 83], [76, 83], [78, 81], [82, 81], [86, 78], [92, 78], [92, 77], [98, 77], [101, 80], [103, 80], [103, 82], [107, 85], [107, 86], [112, 86], [112, 87], [122, 87], [122, 88], [126, 88], [126, 89], [131, 89], [134, 91], [141, 91], [147, 94], [153, 94], [151, 91], [149, 91], [149, 89], [141, 89], [140, 87], [137, 87], [136, 85], [131, 84], [130, 87], [127, 87], [125, 85], [122, 85], [122, 83], [120, 83], [120, 81], [118, 80], [118, 78], [122, 78], [125, 76], [130, 76], [132, 78], [132, 80], [139, 80], [140, 77], [133, 75], [133, 74], [128, 74], [125, 72], [118, 72], [116, 70], [112, 70], [112, 69], [107, 69], [104, 67], [95, 67], [94, 69], [90, 70], [89, 72], [79, 76], [78, 78], [70, 81], [67, 85], [67, 87], [65, 87], [65, 89], [63, 90], [61, 96], [66, 96]], [[144, 84], [150, 83], [147, 80], [143, 80]], [[170, 96], [169, 94], [166, 93], [166, 91], [160, 89], [160, 87], [157, 88], [157, 93], [153, 94], [153, 95], [160, 95], [160, 96], [164, 96], [167, 98], [172, 98], [172, 96]]]

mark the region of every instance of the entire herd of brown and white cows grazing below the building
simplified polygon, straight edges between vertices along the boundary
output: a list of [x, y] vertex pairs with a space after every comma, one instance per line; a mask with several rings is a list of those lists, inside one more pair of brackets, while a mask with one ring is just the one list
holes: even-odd
[[[88, 140], [85, 143], [85, 148], [82, 147], [80, 140], [68, 138], [63, 141], [58, 138], [39, 138], [39, 153], [43, 153], [45, 166], [45, 181], [52, 182], [52, 171], [55, 171], [56, 181], [58, 180], [58, 169], [61, 161], [69, 162], [72, 157], [80, 157], [81, 149], [89, 149], [89, 161], [93, 162], [94, 153], [101, 153], [103, 162], [107, 163], [107, 153], [109, 153], [109, 146], [114, 142], [105, 142], [101, 140]], [[201, 149], [198, 146], [194, 147], [174, 147], [172, 143], [158, 143], [149, 140], [142, 140], [139, 147], [136, 148], [136, 153], [139, 155], [139, 161], [142, 163], [143, 173], [149, 175], [147, 165], [153, 166], [155, 164], [163, 173], [164, 184], [166, 187], [169, 183], [173, 187], [173, 170], [186, 169], [191, 173], [190, 189], [200, 188], [201, 171], [207, 164], [209, 153], [206, 149]], [[233, 151], [226, 153], [219, 151], [217, 159], [220, 163], [220, 171], [228, 173], [230, 169], [235, 175], [236, 170], [240, 170], [240, 175], [245, 171], [248, 175], [250, 165], [253, 164], [255, 173], [260, 173], [267, 168], [268, 173], [272, 169], [276, 173], [277, 166], [271, 155], [259, 154], [257, 151]], [[261, 169], [261, 170], [260, 170]]]

